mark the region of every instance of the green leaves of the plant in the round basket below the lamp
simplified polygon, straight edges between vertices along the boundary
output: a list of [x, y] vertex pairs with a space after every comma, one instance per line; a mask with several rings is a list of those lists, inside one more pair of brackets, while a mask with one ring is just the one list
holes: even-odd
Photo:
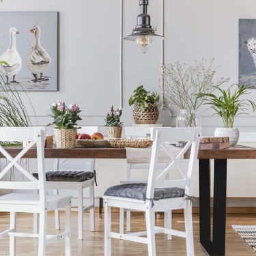
[[129, 105], [132, 106], [134, 103], [139, 104], [139, 108], [141, 111], [145, 111], [145, 109], [151, 104], [157, 104], [159, 101], [159, 94], [155, 92], [146, 91], [143, 88], [143, 85], [140, 85], [136, 89], [134, 89], [134, 94], [129, 98]]

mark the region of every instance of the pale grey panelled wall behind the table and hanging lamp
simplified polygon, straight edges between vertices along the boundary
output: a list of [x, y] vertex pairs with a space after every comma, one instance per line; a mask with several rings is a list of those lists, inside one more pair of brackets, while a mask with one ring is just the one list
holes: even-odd
[[[81, 106], [81, 125], [102, 126], [100, 131], [104, 134], [104, 115], [112, 104], [122, 104], [122, 121], [124, 125], [132, 125], [132, 109], [128, 106], [128, 98], [141, 83], [149, 90], [157, 90], [163, 62], [174, 63], [179, 60], [193, 64], [196, 59], [214, 57], [215, 63], [221, 66], [217, 70], [216, 79], [229, 77], [230, 82], [225, 87], [238, 83], [238, 18], [256, 18], [255, 8], [254, 0], [150, 0], [148, 13], [152, 25], [157, 26], [158, 33], [164, 31], [165, 40], [163, 44], [154, 42], [150, 51], [142, 55], [132, 42], [121, 40], [122, 35], [129, 34], [136, 25], [138, 0], [124, 0], [123, 30], [121, 0], [3, 0], [0, 4], [3, 12], [59, 12], [59, 90], [29, 91], [37, 113], [33, 123], [45, 125], [51, 122], [48, 117], [51, 103], [61, 99]], [[251, 90], [249, 97], [255, 99], [255, 96], [256, 91]], [[177, 109], [169, 109], [173, 117], [168, 111], [161, 110], [160, 124], [175, 124]], [[222, 126], [221, 120], [212, 117], [210, 110], [204, 109], [199, 111], [203, 135], [212, 135], [216, 126]], [[30, 109], [29, 113], [33, 115]], [[238, 117], [235, 125], [242, 131], [255, 130], [255, 113]], [[97, 161], [99, 176], [116, 171], [115, 163], [112, 165], [111, 161], [106, 161], [109, 167], [105, 170], [102, 161], [105, 162]], [[124, 174], [124, 160], [117, 162], [118, 169]], [[244, 167], [244, 162], [241, 165]], [[99, 184], [96, 195], [101, 195], [106, 186], [118, 181], [119, 177], [115, 181], [103, 179], [104, 184]], [[233, 183], [231, 185], [236, 186]], [[229, 191], [229, 196], [238, 196], [236, 188], [229, 186]]]

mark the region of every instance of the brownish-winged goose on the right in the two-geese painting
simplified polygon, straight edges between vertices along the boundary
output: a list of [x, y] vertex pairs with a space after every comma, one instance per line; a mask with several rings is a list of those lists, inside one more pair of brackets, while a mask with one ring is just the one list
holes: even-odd
[[[48, 79], [43, 77], [43, 74], [51, 65], [51, 56], [48, 55], [40, 44], [40, 27], [35, 25], [30, 29], [30, 32], [34, 33], [34, 38], [31, 51], [27, 56], [27, 68], [29, 68], [34, 76], [33, 82], [47, 81]], [[38, 74], [40, 74], [39, 77]]]

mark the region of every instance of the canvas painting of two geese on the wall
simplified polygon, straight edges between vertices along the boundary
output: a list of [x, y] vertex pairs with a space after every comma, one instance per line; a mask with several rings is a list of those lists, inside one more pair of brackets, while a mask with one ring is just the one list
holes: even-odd
[[0, 12], [0, 71], [18, 91], [57, 91], [57, 12]]

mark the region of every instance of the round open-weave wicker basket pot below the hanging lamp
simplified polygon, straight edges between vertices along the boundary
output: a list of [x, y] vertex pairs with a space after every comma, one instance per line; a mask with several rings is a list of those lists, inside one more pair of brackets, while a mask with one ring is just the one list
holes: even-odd
[[149, 106], [144, 111], [141, 111], [139, 103], [134, 103], [132, 115], [135, 124], [156, 124], [159, 116], [158, 106], [149, 103]]

